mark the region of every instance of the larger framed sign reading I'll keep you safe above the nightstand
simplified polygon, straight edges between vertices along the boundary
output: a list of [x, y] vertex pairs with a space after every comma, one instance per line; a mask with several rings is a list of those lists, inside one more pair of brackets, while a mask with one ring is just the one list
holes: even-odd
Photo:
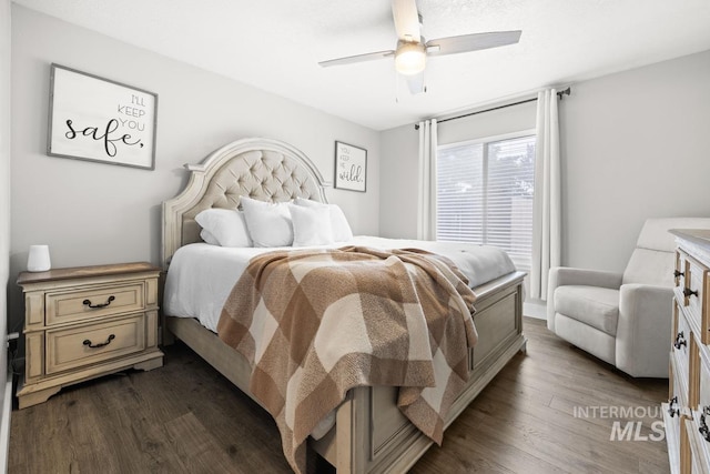
[[47, 153], [155, 169], [158, 94], [52, 64]]

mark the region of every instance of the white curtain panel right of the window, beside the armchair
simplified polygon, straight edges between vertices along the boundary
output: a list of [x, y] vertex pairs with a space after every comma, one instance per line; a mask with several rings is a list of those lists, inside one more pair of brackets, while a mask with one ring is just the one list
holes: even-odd
[[560, 180], [557, 91], [548, 89], [537, 97], [530, 296], [539, 300], [547, 299], [550, 268], [560, 264]]

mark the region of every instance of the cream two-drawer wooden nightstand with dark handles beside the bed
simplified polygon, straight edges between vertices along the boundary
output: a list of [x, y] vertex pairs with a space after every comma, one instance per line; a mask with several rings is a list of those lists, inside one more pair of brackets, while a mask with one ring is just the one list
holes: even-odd
[[26, 342], [20, 409], [78, 382], [162, 366], [160, 271], [149, 263], [124, 263], [20, 273]]

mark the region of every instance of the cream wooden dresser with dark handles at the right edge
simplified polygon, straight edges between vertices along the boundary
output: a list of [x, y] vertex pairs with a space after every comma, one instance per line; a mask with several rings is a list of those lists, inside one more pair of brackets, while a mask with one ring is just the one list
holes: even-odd
[[669, 403], [672, 473], [710, 472], [710, 231], [672, 230], [678, 242]]

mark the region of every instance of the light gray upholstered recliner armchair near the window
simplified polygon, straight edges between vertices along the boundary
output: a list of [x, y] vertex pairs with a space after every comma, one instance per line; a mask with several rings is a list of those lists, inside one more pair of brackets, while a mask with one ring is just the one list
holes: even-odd
[[674, 236], [710, 229], [710, 219], [649, 219], [623, 273], [555, 268], [547, 327], [636, 377], [668, 377]]

